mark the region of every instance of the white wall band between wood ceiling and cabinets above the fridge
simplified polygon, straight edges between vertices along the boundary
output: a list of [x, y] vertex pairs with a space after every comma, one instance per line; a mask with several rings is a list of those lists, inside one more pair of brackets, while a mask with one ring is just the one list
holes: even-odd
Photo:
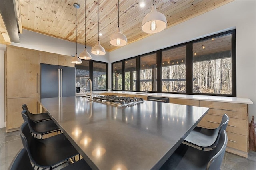
[[[11, 43], [11, 45], [68, 56], [76, 55], [76, 43], [74, 42], [24, 29], [19, 36], [20, 43]], [[109, 62], [109, 52], [106, 52], [105, 55], [94, 55], [91, 53], [92, 47], [86, 45], [86, 49], [92, 55], [92, 60]], [[82, 51], [84, 51], [84, 45], [77, 44], [77, 54], [79, 55]]]

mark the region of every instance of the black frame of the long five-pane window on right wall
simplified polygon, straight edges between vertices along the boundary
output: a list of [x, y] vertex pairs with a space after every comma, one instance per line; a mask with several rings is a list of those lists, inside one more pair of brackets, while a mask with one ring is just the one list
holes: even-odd
[[[214, 94], [214, 93], [193, 93], [193, 43], [204, 41], [206, 39], [214, 38], [214, 37], [219, 37], [219, 36], [224, 36], [226, 34], [231, 34], [231, 68], [232, 68], [232, 94]], [[176, 48], [179, 46], [185, 45], [186, 46], [186, 93], [179, 93], [179, 92], [163, 92], [162, 91], [162, 51], [166, 51], [168, 49]], [[137, 59], [137, 91], [141, 91], [140, 87], [140, 57], [143, 57], [145, 55], [150, 55], [152, 53], [156, 53], [156, 63], [157, 63], [157, 73], [156, 73], [156, 79], [157, 79], [157, 89], [156, 91], [152, 91], [152, 93], [170, 93], [170, 94], [184, 94], [184, 95], [209, 95], [209, 96], [228, 96], [228, 97], [236, 97], [236, 29], [221, 32], [218, 34], [213, 34], [210, 36], [206, 36], [203, 38], [199, 38], [196, 40], [192, 40], [189, 42], [181, 43], [178, 45], [170, 46], [164, 49], [159, 49], [156, 51], [152, 51], [149, 53], [145, 53], [142, 55], [138, 55], [135, 57], [131, 58], [126, 58], [120, 61], [116, 61], [112, 63], [112, 71], [113, 71], [113, 64], [122, 62], [122, 90], [115, 90], [115, 91], [130, 91], [130, 90], [125, 90], [124, 89], [124, 62], [125, 60], [128, 59]], [[113, 72], [112, 72], [112, 90], [113, 90]]]

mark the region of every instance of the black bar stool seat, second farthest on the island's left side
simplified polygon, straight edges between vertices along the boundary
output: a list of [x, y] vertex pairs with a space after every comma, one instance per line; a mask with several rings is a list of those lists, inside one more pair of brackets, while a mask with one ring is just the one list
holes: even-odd
[[40, 134], [43, 137], [44, 134], [52, 133], [52, 132], [58, 132], [60, 129], [58, 126], [54, 123], [52, 119], [48, 121], [41, 121], [41, 122], [33, 122], [28, 117], [28, 112], [26, 110], [23, 110], [21, 112], [21, 115], [23, 117], [23, 120], [28, 123], [28, 127], [30, 128], [30, 132], [33, 134]]

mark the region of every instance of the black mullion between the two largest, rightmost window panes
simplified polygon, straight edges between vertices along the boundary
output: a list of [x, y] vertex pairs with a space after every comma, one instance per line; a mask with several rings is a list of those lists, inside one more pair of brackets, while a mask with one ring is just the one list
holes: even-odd
[[186, 44], [186, 94], [193, 93], [193, 49], [192, 43]]

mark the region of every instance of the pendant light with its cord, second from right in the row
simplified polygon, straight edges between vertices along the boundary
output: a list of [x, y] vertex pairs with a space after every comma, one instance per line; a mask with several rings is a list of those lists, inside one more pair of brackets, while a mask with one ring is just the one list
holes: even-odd
[[119, 0], [118, 0], [118, 28], [117, 32], [110, 36], [110, 44], [121, 47], [127, 44], [126, 36], [120, 31], [119, 28]]

